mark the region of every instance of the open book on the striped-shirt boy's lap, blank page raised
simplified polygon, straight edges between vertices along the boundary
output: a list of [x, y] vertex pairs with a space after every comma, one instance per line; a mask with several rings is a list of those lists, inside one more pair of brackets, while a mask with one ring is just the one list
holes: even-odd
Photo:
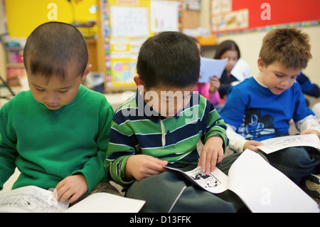
[[319, 213], [318, 204], [299, 186], [272, 167], [260, 154], [249, 149], [232, 164], [228, 176], [217, 167], [208, 176], [201, 172], [200, 167], [181, 172], [213, 194], [227, 189], [235, 192], [252, 212]]

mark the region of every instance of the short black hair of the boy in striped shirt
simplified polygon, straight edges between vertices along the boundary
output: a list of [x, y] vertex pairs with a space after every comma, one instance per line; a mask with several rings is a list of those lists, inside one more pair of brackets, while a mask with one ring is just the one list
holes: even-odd
[[137, 73], [144, 86], [187, 88], [200, 75], [200, 55], [196, 43], [183, 33], [165, 31], [148, 38], [140, 48]]

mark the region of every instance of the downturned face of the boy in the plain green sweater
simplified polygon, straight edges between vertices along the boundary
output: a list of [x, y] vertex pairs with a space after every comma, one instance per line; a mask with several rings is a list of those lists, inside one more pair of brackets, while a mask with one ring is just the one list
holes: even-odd
[[[85, 72], [89, 73], [87, 69]], [[49, 81], [42, 75], [28, 73], [28, 84], [35, 100], [50, 110], [58, 110], [73, 101], [87, 73], [75, 75], [74, 70], [68, 68], [64, 80], [53, 75]]]

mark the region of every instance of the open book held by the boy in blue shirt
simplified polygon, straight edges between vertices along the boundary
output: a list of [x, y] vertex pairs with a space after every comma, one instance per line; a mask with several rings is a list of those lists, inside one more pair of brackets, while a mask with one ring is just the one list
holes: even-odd
[[265, 154], [277, 152], [287, 147], [314, 147], [319, 150], [320, 139], [316, 134], [297, 134], [286, 137], [274, 137], [261, 141], [263, 145], [258, 146]]

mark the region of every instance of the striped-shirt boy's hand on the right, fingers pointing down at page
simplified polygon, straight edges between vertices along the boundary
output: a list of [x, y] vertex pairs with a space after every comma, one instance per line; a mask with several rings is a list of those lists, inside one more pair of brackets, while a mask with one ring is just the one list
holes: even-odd
[[223, 139], [221, 137], [210, 137], [203, 146], [198, 166], [201, 166], [201, 171], [208, 175], [210, 171], [215, 170], [215, 164], [217, 162], [220, 163], [222, 160]]

